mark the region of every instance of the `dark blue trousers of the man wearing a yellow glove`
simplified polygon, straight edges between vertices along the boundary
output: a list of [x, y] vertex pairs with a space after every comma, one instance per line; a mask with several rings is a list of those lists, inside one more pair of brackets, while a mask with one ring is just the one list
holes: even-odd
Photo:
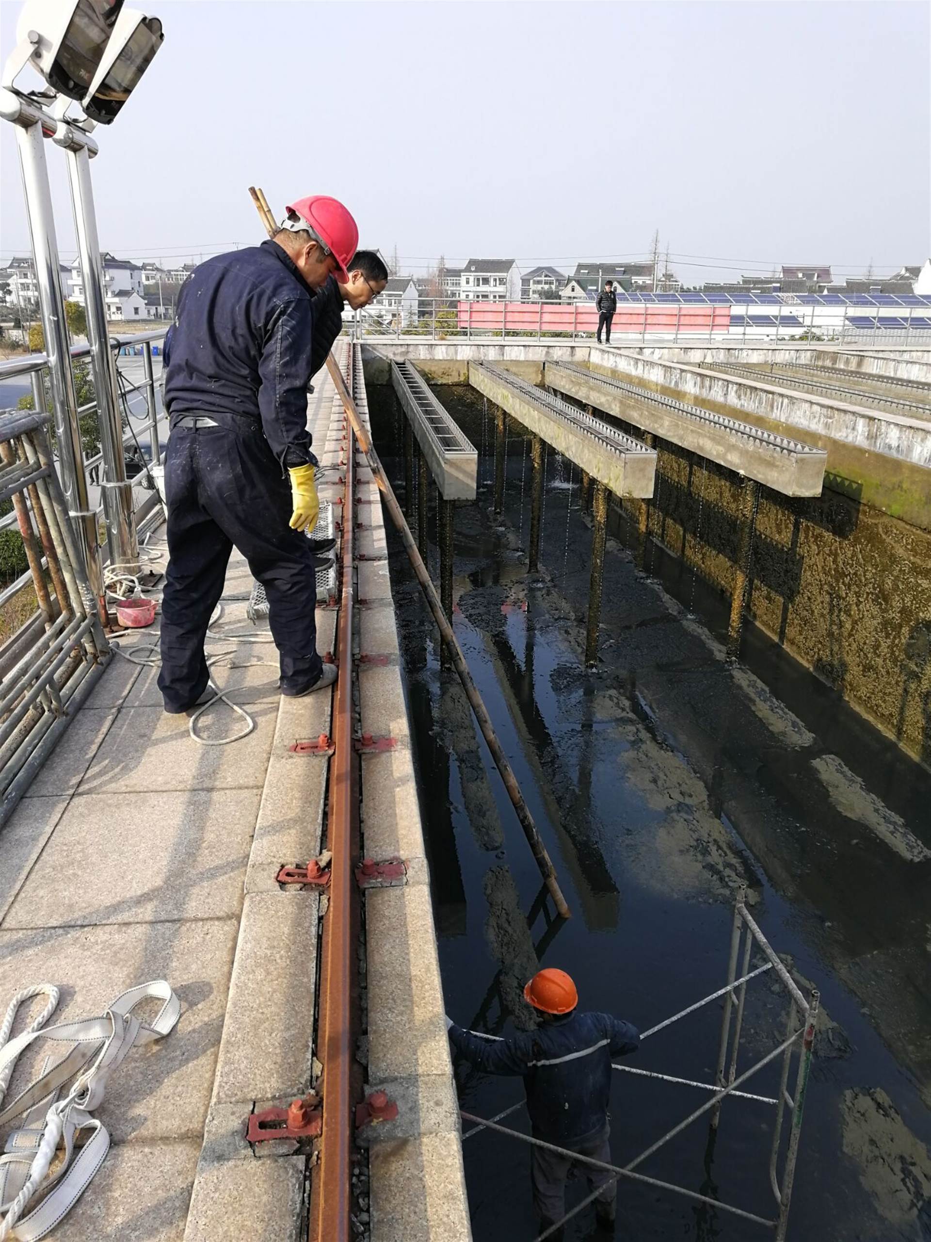
[[288, 525], [290, 488], [261, 430], [247, 424], [235, 431], [173, 427], [165, 501], [169, 564], [159, 673], [165, 708], [184, 710], [206, 689], [204, 641], [233, 546], [266, 589], [282, 689], [319, 681], [315, 563], [307, 537]]

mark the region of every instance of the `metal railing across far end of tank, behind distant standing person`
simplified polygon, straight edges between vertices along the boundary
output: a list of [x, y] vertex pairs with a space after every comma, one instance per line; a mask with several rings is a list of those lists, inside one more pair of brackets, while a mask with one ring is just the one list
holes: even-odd
[[[358, 310], [353, 335], [448, 339], [515, 338], [591, 342], [598, 330], [593, 302], [478, 302], [420, 298], [417, 303]], [[623, 344], [799, 342], [931, 345], [931, 306], [869, 307], [618, 302], [612, 340]]]

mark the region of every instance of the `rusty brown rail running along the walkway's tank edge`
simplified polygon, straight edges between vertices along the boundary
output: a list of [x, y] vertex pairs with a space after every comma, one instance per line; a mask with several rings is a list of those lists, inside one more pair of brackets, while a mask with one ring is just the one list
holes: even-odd
[[[349, 383], [353, 384], [353, 349]], [[335, 658], [339, 677], [333, 694], [326, 848], [330, 864], [329, 907], [320, 950], [320, 1011], [317, 1056], [323, 1063], [323, 1136], [310, 1196], [312, 1242], [350, 1242], [353, 1185], [354, 996], [359, 894], [354, 868], [359, 854], [359, 760], [353, 745], [353, 602], [355, 558], [355, 435], [346, 425], [343, 503], [341, 585]]]

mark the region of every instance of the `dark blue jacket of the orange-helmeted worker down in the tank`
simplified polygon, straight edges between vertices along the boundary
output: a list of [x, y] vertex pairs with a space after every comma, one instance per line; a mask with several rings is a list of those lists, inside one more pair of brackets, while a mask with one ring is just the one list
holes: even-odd
[[636, 1052], [639, 1031], [609, 1013], [577, 1010], [511, 1040], [449, 1028], [453, 1047], [488, 1074], [520, 1074], [534, 1134], [575, 1143], [607, 1125], [611, 1058]]

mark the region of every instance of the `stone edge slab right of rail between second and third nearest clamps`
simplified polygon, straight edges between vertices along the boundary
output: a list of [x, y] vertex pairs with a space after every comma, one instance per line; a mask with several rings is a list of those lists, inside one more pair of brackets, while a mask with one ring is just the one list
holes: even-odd
[[371, 858], [423, 853], [417, 781], [410, 750], [362, 755], [362, 828]]

